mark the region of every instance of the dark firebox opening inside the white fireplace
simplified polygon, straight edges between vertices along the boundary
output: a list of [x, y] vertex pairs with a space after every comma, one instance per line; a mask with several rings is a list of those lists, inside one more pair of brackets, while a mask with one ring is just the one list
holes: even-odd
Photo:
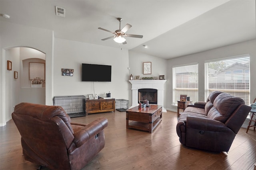
[[138, 89], [138, 103], [148, 100], [149, 104], [157, 104], [157, 90], [152, 88]]

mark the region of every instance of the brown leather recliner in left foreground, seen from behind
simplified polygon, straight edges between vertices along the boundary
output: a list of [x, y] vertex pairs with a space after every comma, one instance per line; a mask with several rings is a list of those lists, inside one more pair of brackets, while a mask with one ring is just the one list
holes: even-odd
[[70, 123], [60, 106], [20, 103], [12, 119], [25, 160], [53, 170], [80, 170], [105, 146], [104, 117], [88, 125]]

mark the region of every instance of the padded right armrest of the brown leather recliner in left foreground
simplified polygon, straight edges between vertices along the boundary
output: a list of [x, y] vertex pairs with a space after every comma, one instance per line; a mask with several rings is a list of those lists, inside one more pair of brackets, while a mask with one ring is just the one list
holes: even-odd
[[100, 131], [108, 126], [108, 119], [101, 117], [92, 121], [88, 125], [84, 126], [82, 129], [74, 133], [74, 144], [76, 147], [82, 146], [90, 138], [95, 137]]

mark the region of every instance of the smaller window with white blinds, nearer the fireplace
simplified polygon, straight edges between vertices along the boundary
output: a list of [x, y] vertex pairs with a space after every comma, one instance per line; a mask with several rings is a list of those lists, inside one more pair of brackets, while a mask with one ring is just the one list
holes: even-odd
[[198, 63], [175, 66], [172, 75], [173, 103], [178, 103], [181, 94], [190, 96], [190, 101], [198, 101]]

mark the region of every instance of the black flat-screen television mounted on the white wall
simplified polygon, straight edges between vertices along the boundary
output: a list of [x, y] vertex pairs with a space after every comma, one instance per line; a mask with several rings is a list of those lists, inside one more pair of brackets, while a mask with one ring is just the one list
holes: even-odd
[[83, 82], [111, 82], [111, 66], [82, 63]]

